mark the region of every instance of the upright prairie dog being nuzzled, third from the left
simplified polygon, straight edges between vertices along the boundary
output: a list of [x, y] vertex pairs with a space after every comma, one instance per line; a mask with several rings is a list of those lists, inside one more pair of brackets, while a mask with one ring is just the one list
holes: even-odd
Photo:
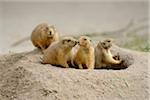
[[94, 69], [95, 55], [91, 39], [86, 36], [79, 38], [79, 44], [76, 46], [76, 52], [73, 55], [73, 63], [80, 69]]

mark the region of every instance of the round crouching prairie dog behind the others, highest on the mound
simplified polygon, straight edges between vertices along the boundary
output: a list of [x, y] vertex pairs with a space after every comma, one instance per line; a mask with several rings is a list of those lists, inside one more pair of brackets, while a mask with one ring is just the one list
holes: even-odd
[[59, 34], [54, 26], [41, 23], [35, 27], [31, 34], [31, 41], [35, 47], [45, 50], [52, 42], [59, 40]]

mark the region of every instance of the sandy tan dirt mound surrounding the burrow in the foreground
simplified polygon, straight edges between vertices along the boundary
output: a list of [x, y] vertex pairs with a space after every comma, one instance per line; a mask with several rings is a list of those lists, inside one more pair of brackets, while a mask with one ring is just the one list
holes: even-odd
[[148, 100], [148, 53], [117, 50], [122, 57], [133, 57], [127, 69], [42, 65], [36, 50], [1, 55], [0, 100]]

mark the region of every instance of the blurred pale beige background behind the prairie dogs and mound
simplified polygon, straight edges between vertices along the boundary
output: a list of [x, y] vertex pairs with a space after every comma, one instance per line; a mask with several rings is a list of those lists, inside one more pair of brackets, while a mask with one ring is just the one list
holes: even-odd
[[[121, 0], [120, 0], [121, 1]], [[61, 36], [87, 35], [96, 44], [114, 38], [123, 48], [148, 52], [148, 0], [111, 2], [0, 1], [0, 53], [34, 49], [27, 38], [37, 24], [54, 25]]]

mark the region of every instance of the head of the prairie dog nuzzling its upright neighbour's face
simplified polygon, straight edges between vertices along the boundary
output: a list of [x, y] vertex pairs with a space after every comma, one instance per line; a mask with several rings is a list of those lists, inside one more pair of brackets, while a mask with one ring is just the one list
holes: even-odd
[[61, 40], [61, 43], [63, 44], [64, 47], [72, 48], [78, 43], [78, 41], [74, 39], [73, 37], [64, 37]]

